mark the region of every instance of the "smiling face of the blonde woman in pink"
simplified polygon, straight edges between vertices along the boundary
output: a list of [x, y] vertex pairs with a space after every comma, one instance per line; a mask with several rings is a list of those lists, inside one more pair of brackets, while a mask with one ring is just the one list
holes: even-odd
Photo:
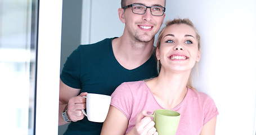
[[156, 57], [161, 62], [161, 70], [190, 71], [199, 62], [201, 51], [198, 49], [196, 32], [186, 24], [168, 26], [161, 38]]

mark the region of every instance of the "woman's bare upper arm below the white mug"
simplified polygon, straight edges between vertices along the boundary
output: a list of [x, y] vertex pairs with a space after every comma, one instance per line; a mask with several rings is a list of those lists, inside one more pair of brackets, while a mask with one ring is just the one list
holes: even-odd
[[106, 118], [105, 122], [103, 123], [101, 135], [125, 134], [127, 127], [128, 127], [127, 117], [122, 113], [122, 111], [120, 111], [116, 107], [110, 105], [109, 113], [107, 114], [107, 118]]

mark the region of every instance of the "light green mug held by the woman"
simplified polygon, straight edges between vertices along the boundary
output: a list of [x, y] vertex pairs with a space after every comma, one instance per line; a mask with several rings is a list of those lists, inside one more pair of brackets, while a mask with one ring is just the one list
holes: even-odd
[[159, 135], [175, 135], [181, 114], [177, 111], [158, 109], [151, 115]]

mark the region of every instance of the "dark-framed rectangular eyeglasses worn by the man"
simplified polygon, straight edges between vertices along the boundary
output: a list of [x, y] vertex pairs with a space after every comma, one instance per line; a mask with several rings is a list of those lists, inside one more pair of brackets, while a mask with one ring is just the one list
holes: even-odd
[[162, 6], [148, 7], [143, 4], [129, 4], [128, 6], [124, 6], [123, 9], [128, 7], [132, 7], [132, 12], [140, 15], [143, 15], [147, 11], [147, 8], [150, 8], [150, 12], [154, 16], [163, 16], [165, 12], [165, 7]]

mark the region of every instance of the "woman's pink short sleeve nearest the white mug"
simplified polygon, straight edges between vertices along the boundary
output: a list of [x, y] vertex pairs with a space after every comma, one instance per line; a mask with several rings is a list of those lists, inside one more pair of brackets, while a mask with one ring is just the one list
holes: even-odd
[[122, 111], [127, 119], [131, 118], [133, 96], [131, 89], [126, 83], [120, 84], [111, 95], [111, 105]]

